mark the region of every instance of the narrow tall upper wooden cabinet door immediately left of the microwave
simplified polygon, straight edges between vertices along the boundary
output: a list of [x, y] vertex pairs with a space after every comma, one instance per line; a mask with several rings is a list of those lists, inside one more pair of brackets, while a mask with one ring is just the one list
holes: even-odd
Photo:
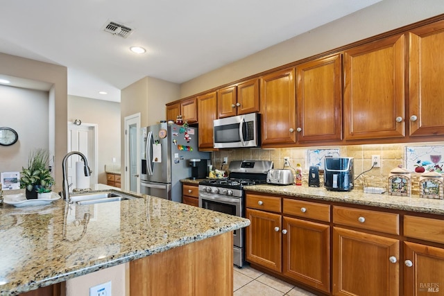
[[199, 149], [214, 150], [213, 121], [217, 119], [217, 94], [197, 97], [199, 118]]

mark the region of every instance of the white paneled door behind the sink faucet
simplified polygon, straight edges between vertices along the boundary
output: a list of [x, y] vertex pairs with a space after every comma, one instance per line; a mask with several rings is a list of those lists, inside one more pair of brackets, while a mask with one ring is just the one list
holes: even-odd
[[[92, 171], [91, 176], [89, 176], [89, 184], [86, 185], [85, 182], [77, 184], [76, 162], [81, 162], [81, 158], [78, 155], [71, 155], [67, 159], [68, 184], [72, 184], [69, 188], [70, 191], [78, 188], [78, 185], [80, 187], [89, 186], [89, 188], [92, 188], [92, 185], [98, 182], [97, 169], [99, 165], [97, 159], [96, 127], [97, 125], [95, 124], [82, 123], [81, 125], [75, 125], [72, 122], [68, 122], [68, 152], [78, 151], [83, 153]], [[83, 175], [83, 172], [80, 173]]]

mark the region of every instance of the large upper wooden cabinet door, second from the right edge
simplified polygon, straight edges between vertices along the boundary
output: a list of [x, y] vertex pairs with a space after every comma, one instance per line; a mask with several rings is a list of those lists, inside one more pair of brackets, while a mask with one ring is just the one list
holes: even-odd
[[345, 51], [344, 137], [404, 137], [404, 35]]

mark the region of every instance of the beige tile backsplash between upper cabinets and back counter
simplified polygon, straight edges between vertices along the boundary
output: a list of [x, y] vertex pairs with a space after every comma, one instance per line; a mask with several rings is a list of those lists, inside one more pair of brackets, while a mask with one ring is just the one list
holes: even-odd
[[[371, 145], [350, 145], [350, 146], [332, 146], [322, 147], [322, 150], [337, 151], [341, 157], [353, 157], [355, 164], [355, 178], [363, 171], [367, 171], [372, 167], [372, 155], [380, 155], [381, 167], [373, 168], [372, 170], [362, 174], [355, 180], [355, 189], [362, 189], [363, 186], [383, 187], [387, 189], [388, 175], [393, 168], [399, 165], [406, 168], [413, 159], [411, 154], [406, 153], [406, 148], [413, 148], [414, 150], [427, 150], [429, 146], [444, 146], [444, 142], [433, 143], [391, 143], [391, 144], [371, 144]], [[307, 174], [309, 167], [309, 153], [316, 150], [316, 147], [303, 148], [276, 148], [276, 149], [233, 149], [233, 150], [219, 150], [212, 153], [212, 164], [215, 168], [222, 168], [228, 171], [228, 164], [223, 164], [223, 157], [228, 157], [228, 162], [232, 160], [247, 160], [260, 159], [273, 161], [274, 168], [284, 168], [284, 157], [290, 158], [290, 164], [296, 168], [296, 164], [301, 164], [304, 168], [303, 182], [307, 186]], [[335, 155], [334, 155], [335, 156]], [[286, 167], [288, 168], [288, 167]], [[323, 174], [320, 174], [321, 182]], [[411, 173], [411, 192], [412, 194], [419, 194], [419, 177], [420, 173]]]

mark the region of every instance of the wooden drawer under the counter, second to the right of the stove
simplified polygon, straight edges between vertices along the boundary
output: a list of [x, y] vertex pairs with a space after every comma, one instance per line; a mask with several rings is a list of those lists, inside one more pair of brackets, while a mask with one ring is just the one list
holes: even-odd
[[284, 214], [330, 222], [330, 204], [284, 198]]

